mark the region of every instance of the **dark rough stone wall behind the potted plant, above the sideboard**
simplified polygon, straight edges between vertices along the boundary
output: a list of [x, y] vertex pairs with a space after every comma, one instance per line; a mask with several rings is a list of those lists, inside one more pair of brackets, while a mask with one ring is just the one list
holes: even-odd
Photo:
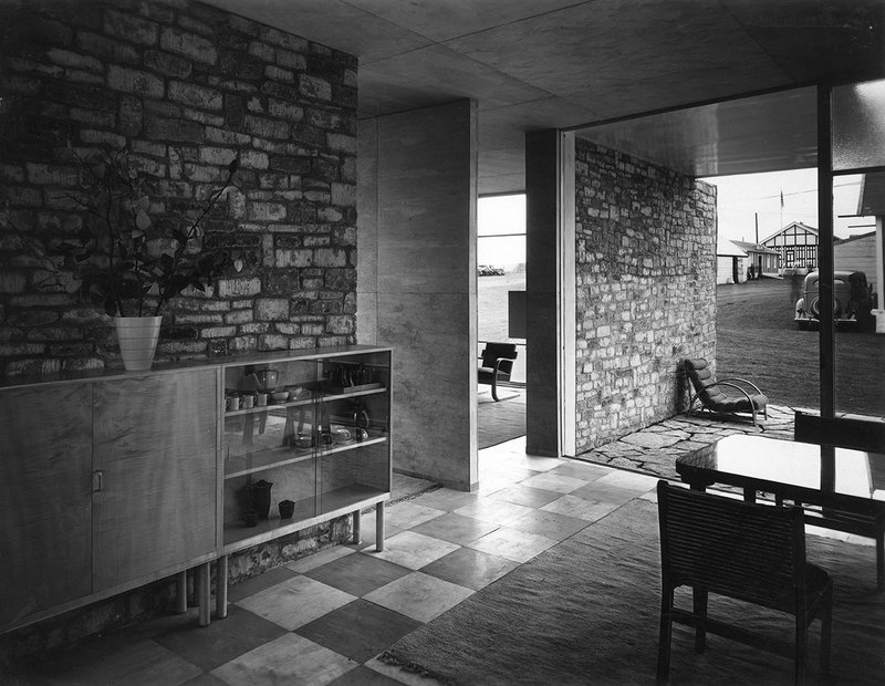
[[158, 360], [355, 342], [356, 59], [186, 0], [0, 4], [0, 374], [121, 366], [111, 319], [45, 288], [23, 248], [87, 221], [72, 150], [128, 145], [154, 224], [225, 178], [235, 247], [165, 310]]

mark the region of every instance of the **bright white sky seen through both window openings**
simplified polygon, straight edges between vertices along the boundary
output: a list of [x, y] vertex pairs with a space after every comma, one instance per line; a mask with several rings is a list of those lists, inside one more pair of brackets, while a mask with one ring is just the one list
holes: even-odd
[[[818, 173], [815, 169], [743, 174], [704, 179], [718, 188], [719, 236], [731, 240], [763, 240], [793, 221], [815, 229], [818, 221]], [[840, 217], [857, 211], [860, 176], [840, 176], [834, 180], [834, 232], [839, 238], [867, 233], [875, 229], [871, 217]], [[781, 208], [783, 191], [783, 208]], [[525, 231], [525, 196], [480, 198], [477, 208], [479, 236], [522, 233]], [[525, 261], [521, 239], [479, 241], [478, 262], [512, 268]]]

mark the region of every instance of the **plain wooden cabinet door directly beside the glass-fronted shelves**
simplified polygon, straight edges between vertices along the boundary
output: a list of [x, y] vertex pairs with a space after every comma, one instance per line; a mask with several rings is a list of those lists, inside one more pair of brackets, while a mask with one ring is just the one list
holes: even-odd
[[181, 371], [95, 384], [95, 590], [159, 578], [216, 543], [217, 376]]

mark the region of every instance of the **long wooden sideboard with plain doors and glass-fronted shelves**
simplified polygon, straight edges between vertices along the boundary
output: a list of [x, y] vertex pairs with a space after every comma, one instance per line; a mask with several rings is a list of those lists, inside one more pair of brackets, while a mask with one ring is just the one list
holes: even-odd
[[[285, 399], [259, 405], [271, 378]], [[184, 610], [196, 567], [207, 624], [215, 560], [225, 616], [229, 554], [344, 514], [360, 538], [360, 511], [391, 496], [389, 429], [391, 350], [374, 346], [4, 382], [0, 633], [174, 574]]]

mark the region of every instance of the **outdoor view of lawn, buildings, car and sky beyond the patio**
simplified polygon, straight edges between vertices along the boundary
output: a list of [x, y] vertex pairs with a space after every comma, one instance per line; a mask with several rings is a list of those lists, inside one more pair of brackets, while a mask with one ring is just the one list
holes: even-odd
[[[718, 188], [720, 374], [751, 380], [773, 404], [816, 412], [816, 169], [704, 180]], [[834, 264], [837, 272], [864, 272], [864, 289], [875, 293], [876, 225], [874, 217], [858, 216], [862, 188], [861, 175], [834, 179]], [[842, 309], [847, 315], [847, 300]], [[865, 313], [860, 325], [846, 321], [836, 326], [836, 397], [841, 412], [885, 415], [881, 383], [885, 350], [883, 336], [875, 335], [874, 325]], [[878, 383], [867, 381], [874, 377]]]

